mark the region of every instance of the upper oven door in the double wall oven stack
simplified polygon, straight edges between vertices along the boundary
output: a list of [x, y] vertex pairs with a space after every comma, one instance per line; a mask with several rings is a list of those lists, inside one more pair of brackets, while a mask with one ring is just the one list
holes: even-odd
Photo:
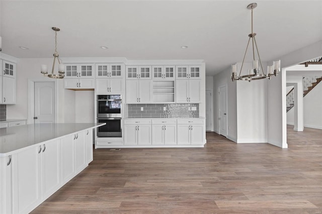
[[121, 99], [98, 99], [97, 117], [98, 118], [121, 118], [122, 100]]

